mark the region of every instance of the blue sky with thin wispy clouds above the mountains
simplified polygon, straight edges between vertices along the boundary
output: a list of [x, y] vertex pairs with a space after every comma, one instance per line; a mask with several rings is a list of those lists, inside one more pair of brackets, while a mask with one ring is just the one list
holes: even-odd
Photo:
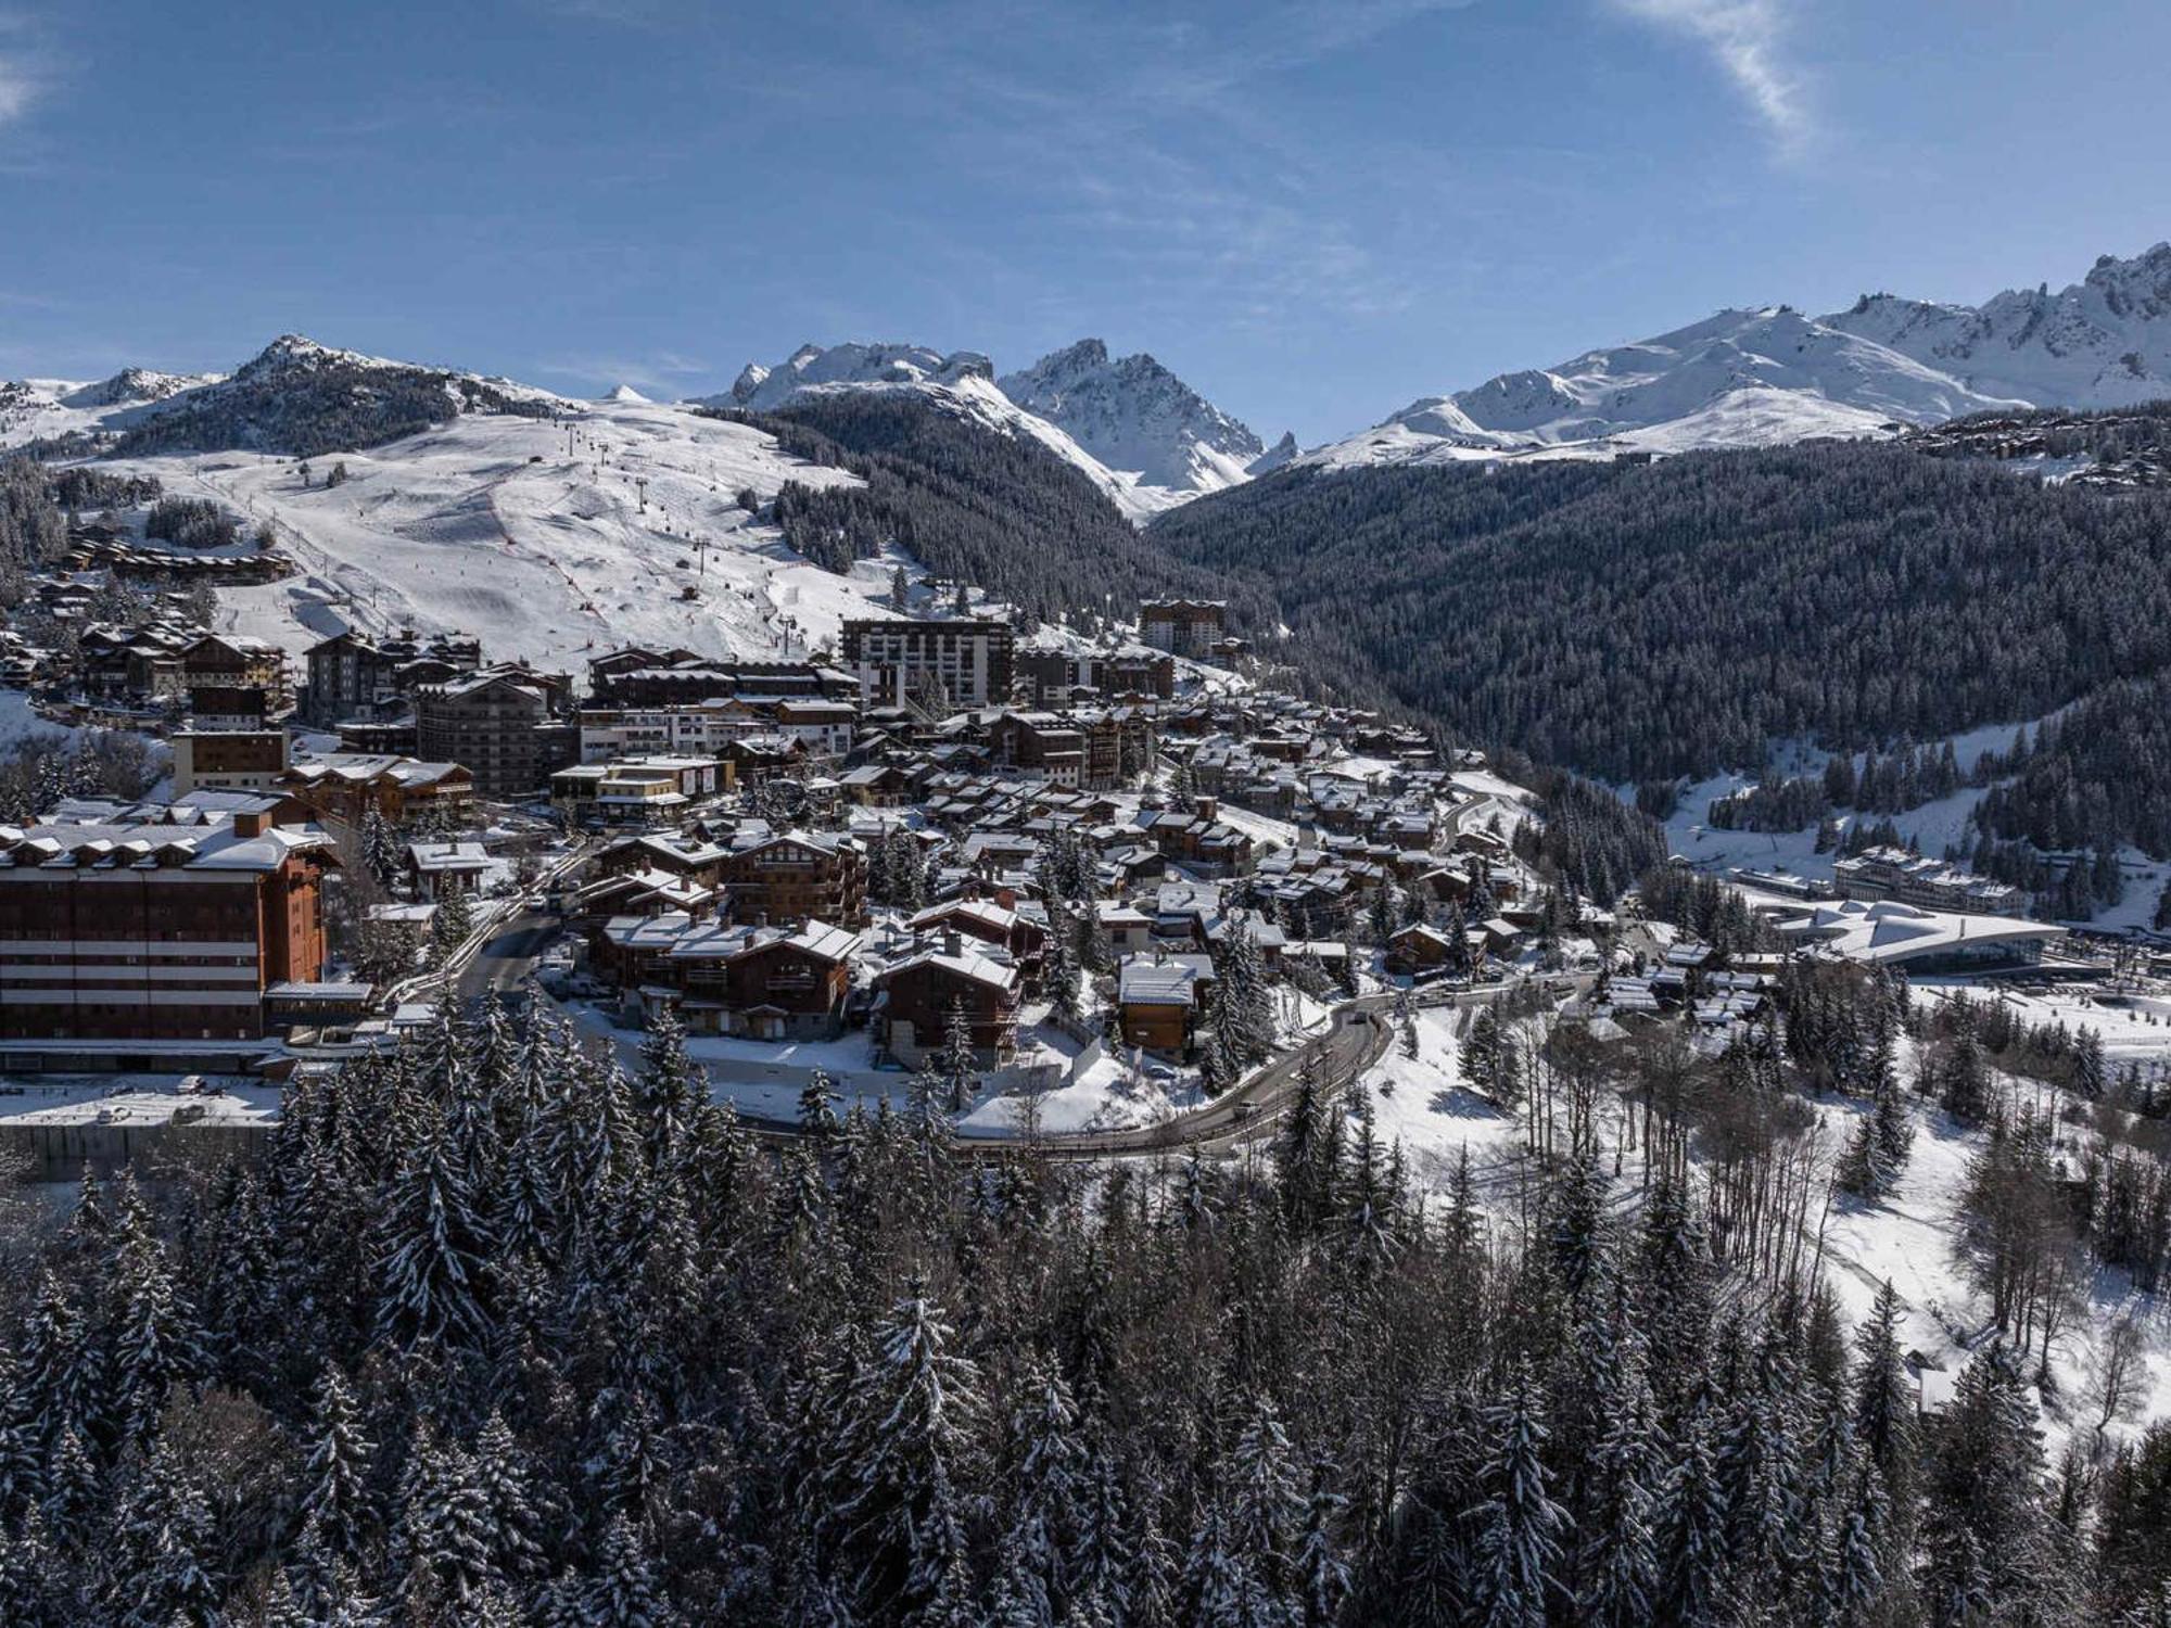
[[0, 0], [0, 376], [1151, 349], [1261, 434], [2171, 237], [2171, 7]]

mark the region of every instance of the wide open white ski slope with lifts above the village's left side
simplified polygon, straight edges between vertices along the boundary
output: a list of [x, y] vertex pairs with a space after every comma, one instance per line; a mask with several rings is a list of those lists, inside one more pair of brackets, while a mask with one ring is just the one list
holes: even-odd
[[[462, 415], [300, 467], [256, 454], [139, 458], [169, 493], [269, 521], [302, 567], [226, 588], [221, 623], [302, 651], [326, 634], [460, 632], [493, 660], [580, 666], [606, 649], [682, 645], [784, 658], [884, 601], [892, 560], [851, 577], [808, 564], [738, 506], [784, 482], [855, 484], [771, 436], [645, 402], [569, 404], [564, 421]], [[334, 462], [347, 480], [326, 486]], [[686, 588], [695, 599], [684, 599]]]

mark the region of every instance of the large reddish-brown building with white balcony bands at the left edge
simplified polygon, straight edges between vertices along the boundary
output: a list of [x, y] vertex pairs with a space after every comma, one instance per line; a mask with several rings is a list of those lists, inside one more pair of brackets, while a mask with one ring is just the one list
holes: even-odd
[[321, 977], [330, 838], [228, 801], [0, 825], [0, 1040], [254, 1040]]

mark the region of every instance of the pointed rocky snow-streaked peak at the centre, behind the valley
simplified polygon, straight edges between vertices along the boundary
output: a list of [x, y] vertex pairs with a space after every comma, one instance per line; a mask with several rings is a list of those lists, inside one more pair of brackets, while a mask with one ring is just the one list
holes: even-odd
[[1081, 339], [996, 380], [1027, 412], [1059, 425], [1109, 469], [1142, 486], [1216, 493], [1250, 478], [1266, 443], [1153, 356], [1114, 358]]

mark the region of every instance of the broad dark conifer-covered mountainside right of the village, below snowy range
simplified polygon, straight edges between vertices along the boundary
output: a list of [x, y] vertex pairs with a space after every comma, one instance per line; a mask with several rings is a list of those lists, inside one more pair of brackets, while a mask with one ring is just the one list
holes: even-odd
[[2171, 660], [2171, 497], [1906, 445], [1290, 471], [1161, 517], [1309, 664], [1615, 779], [2032, 718]]

